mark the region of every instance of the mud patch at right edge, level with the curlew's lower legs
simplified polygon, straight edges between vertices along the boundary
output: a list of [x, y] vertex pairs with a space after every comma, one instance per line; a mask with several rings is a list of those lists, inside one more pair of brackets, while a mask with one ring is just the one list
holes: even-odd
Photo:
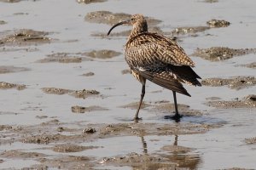
[[218, 109], [256, 108], [256, 95], [250, 94], [242, 99], [237, 98], [231, 101], [208, 101], [206, 105], [216, 107]]

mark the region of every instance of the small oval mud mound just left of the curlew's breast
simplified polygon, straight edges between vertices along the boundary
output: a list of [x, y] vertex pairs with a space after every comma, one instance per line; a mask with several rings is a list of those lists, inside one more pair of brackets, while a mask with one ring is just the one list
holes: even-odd
[[118, 56], [119, 54], [122, 54], [122, 53], [119, 53], [113, 50], [108, 50], [108, 49], [92, 50], [89, 53], [85, 53], [85, 55], [91, 58], [97, 58], [97, 59], [110, 59]]

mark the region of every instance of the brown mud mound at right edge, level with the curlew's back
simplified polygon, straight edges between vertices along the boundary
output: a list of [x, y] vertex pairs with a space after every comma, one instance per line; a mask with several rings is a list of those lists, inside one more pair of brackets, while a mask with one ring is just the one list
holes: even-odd
[[224, 48], [224, 47], [213, 47], [213, 48], [197, 48], [195, 50], [194, 56], [201, 57], [203, 59], [211, 61], [220, 61], [224, 59], [231, 59], [235, 56], [241, 56], [245, 54], [255, 54], [255, 48]]

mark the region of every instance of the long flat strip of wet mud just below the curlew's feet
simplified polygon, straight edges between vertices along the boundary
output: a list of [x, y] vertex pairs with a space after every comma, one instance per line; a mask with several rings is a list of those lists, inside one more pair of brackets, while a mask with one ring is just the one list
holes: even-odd
[[[73, 144], [83, 143], [97, 139], [108, 139], [114, 136], [145, 136], [145, 135], [171, 135], [171, 134], [196, 134], [206, 133], [211, 128], [223, 126], [223, 123], [183, 123], [158, 124], [158, 123], [114, 123], [114, 124], [89, 124], [84, 129], [69, 128], [67, 123], [53, 120], [34, 126], [7, 126], [1, 125], [0, 130], [6, 136], [1, 143], [20, 141], [26, 144]], [[49, 132], [50, 131], [50, 132]], [[67, 134], [70, 133], [70, 134]], [[7, 138], [7, 137], [12, 138]], [[67, 145], [68, 145], [67, 144]], [[91, 149], [95, 147], [89, 147]]]

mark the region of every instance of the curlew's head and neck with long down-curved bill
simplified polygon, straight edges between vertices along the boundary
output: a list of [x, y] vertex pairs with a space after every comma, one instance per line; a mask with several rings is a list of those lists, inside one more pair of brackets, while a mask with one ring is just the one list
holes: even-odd
[[124, 24], [128, 24], [133, 27], [131, 34], [138, 34], [144, 31], [148, 31], [147, 20], [145, 20], [143, 14], [133, 14], [130, 20], [123, 20], [115, 24], [114, 26], [112, 26], [108, 31], [108, 35], [113, 30], [113, 28], [115, 28], [116, 26], [124, 25]]

